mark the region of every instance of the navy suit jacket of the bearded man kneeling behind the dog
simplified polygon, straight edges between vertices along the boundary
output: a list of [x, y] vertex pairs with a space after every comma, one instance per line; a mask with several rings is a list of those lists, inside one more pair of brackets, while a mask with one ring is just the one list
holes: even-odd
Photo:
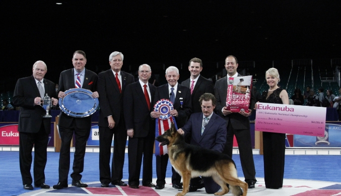
[[191, 134], [190, 144], [223, 152], [226, 143], [226, 121], [213, 112], [201, 136], [202, 112], [193, 113], [182, 127], [185, 137]]

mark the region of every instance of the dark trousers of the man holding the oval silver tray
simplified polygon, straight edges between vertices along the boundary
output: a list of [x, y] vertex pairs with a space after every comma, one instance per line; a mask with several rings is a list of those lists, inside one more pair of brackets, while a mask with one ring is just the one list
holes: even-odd
[[70, 170], [70, 145], [75, 133], [75, 155], [73, 172], [71, 178], [73, 180], [81, 180], [84, 169], [84, 156], [87, 141], [90, 135], [90, 128], [78, 128], [75, 120], [71, 127], [62, 127], [59, 124], [59, 135], [61, 139], [60, 154], [59, 154], [59, 182], [67, 183], [67, 175]]

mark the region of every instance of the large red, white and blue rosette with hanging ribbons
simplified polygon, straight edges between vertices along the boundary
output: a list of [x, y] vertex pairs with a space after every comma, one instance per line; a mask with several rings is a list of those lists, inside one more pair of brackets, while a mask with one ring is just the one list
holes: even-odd
[[[155, 137], [165, 133], [171, 127], [172, 122], [177, 129], [175, 118], [170, 115], [171, 110], [173, 110], [173, 104], [168, 99], [161, 99], [154, 105], [154, 111], [161, 113], [161, 116], [155, 119]], [[155, 156], [165, 155], [167, 153], [167, 146], [159, 146], [159, 142], [155, 141]]]

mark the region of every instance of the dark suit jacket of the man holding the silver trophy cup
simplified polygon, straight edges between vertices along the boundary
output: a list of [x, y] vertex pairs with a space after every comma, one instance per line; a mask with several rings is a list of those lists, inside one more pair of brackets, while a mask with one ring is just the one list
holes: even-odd
[[[44, 79], [45, 95], [57, 98], [55, 84]], [[13, 95], [13, 104], [20, 106], [18, 132], [38, 133], [41, 122], [44, 123], [47, 134], [51, 132], [51, 118], [43, 118], [46, 110], [40, 105], [34, 105], [34, 98], [40, 97], [40, 93], [33, 76], [18, 80]]]

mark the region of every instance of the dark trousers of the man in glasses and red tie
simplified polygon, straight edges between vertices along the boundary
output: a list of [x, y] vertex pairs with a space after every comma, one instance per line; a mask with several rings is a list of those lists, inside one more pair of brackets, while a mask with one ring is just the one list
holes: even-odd
[[129, 181], [128, 184], [140, 184], [140, 172], [143, 156], [142, 184], [152, 182], [153, 179], [153, 148], [155, 131], [151, 130], [147, 137], [129, 138], [128, 160]]

